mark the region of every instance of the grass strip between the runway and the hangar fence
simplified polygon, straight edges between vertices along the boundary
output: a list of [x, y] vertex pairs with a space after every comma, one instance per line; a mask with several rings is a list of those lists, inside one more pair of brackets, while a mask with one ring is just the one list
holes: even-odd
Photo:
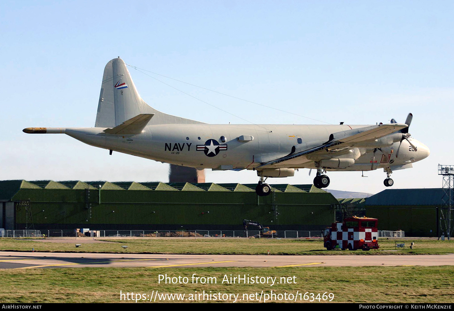
[[[271, 255], [429, 255], [454, 253], [454, 241], [415, 240], [410, 250], [410, 240], [405, 241], [407, 248], [395, 250], [392, 240], [379, 240], [380, 250], [374, 251], [326, 251], [322, 240], [291, 239], [130, 239], [105, 240], [110, 243], [84, 243], [83, 240], [67, 240], [65, 243], [40, 242], [25, 239], [0, 238], [0, 251], [50, 251], [50, 252], [98, 252], [123, 253], [121, 246], [127, 245], [128, 253], [149, 254], [237, 254], [261, 255], [270, 251]], [[75, 248], [75, 243], [82, 246]]]

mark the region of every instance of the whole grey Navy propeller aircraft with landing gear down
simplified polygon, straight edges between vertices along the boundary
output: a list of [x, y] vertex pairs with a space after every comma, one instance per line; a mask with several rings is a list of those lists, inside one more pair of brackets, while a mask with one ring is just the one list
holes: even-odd
[[207, 124], [153, 109], [139, 96], [122, 59], [104, 68], [94, 127], [29, 127], [25, 133], [62, 133], [88, 145], [134, 156], [195, 167], [198, 170], [252, 170], [259, 196], [270, 194], [268, 177], [316, 170], [314, 185], [330, 184], [326, 171], [373, 171], [390, 174], [429, 156], [429, 148], [410, 137], [413, 115], [376, 125], [225, 125]]

